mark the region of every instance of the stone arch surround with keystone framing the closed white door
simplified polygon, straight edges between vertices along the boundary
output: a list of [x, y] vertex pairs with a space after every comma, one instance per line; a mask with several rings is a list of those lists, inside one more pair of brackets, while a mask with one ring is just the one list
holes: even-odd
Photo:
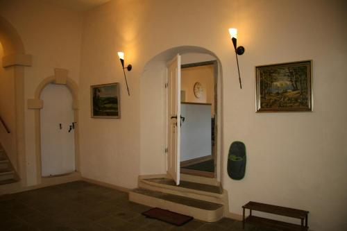
[[41, 166], [41, 114], [40, 110], [44, 107], [44, 101], [40, 99], [42, 90], [50, 83], [65, 85], [71, 92], [73, 103], [72, 110], [74, 110], [74, 121], [76, 128], [74, 132], [75, 139], [75, 163], [76, 171], [80, 171], [80, 152], [79, 152], [79, 129], [78, 129], [78, 85], [74, 80], [67, 76], [68, 71], [65, 69], [54, 69], [54, 76], [44, 78], [35, 89], [34, 99], [28, 99], [28, 109], [35, 110], [35, 155], [36, 155], [36, 173], [37, 184], [42, 182], [42, 166]]

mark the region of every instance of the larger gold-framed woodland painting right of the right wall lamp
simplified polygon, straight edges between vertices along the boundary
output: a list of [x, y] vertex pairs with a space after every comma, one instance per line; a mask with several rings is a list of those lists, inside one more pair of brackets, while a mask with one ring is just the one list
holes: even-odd
[[312, 61], [255, 67], [257, 112], [312, 111]]

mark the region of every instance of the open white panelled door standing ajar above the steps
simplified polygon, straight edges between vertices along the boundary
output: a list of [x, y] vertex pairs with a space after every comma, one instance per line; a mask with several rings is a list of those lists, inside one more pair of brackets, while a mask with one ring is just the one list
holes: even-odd
[[180, 55], [167, 65], [167, 173], [180, 184]]

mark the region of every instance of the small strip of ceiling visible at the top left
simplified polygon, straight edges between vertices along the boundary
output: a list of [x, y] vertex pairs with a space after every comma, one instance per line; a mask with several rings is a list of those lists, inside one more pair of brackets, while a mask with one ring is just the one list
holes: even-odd
[[62, 6], [76, 11], [90, 10], [96, 6], [100, 6], [110, 0], [43, 0], [56, 6]]

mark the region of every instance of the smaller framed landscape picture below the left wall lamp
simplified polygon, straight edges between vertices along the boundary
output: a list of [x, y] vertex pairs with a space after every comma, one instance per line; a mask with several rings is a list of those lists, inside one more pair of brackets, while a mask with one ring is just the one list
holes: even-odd
[[92, 118], [120, 118], [119, 83], [90, 86]]

